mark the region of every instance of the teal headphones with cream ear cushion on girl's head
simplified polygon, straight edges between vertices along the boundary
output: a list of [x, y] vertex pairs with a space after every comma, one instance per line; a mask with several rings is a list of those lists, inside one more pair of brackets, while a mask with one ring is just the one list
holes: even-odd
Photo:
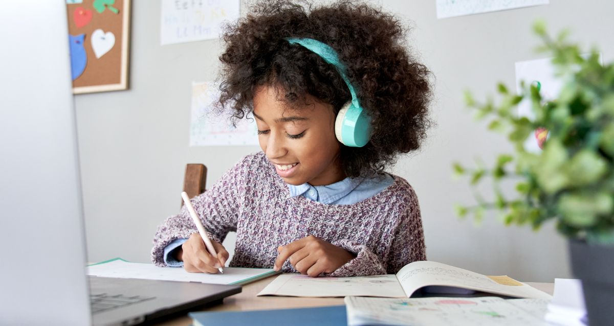
[[349, 93], [352, 94], [352, 100], [343, 105], [335, 119], [335, 135], [337, 140], [346, 146], [362, 147], [367, 145], [371, 137], [371, 117], [367, 114], [367, 110], [360, 106], [354, 86], [349, 82], [349, 78], [346, 75], [347, 68], [339, 60], [336, 51], [332, 47], [314, 39], [287, 37], [286, 40], [290, 44], [302, 45], [316, 53], [316, 55], [321, 56], [327, 63], [333, 64], [336, 67], [341, 78], [348, 85]]

